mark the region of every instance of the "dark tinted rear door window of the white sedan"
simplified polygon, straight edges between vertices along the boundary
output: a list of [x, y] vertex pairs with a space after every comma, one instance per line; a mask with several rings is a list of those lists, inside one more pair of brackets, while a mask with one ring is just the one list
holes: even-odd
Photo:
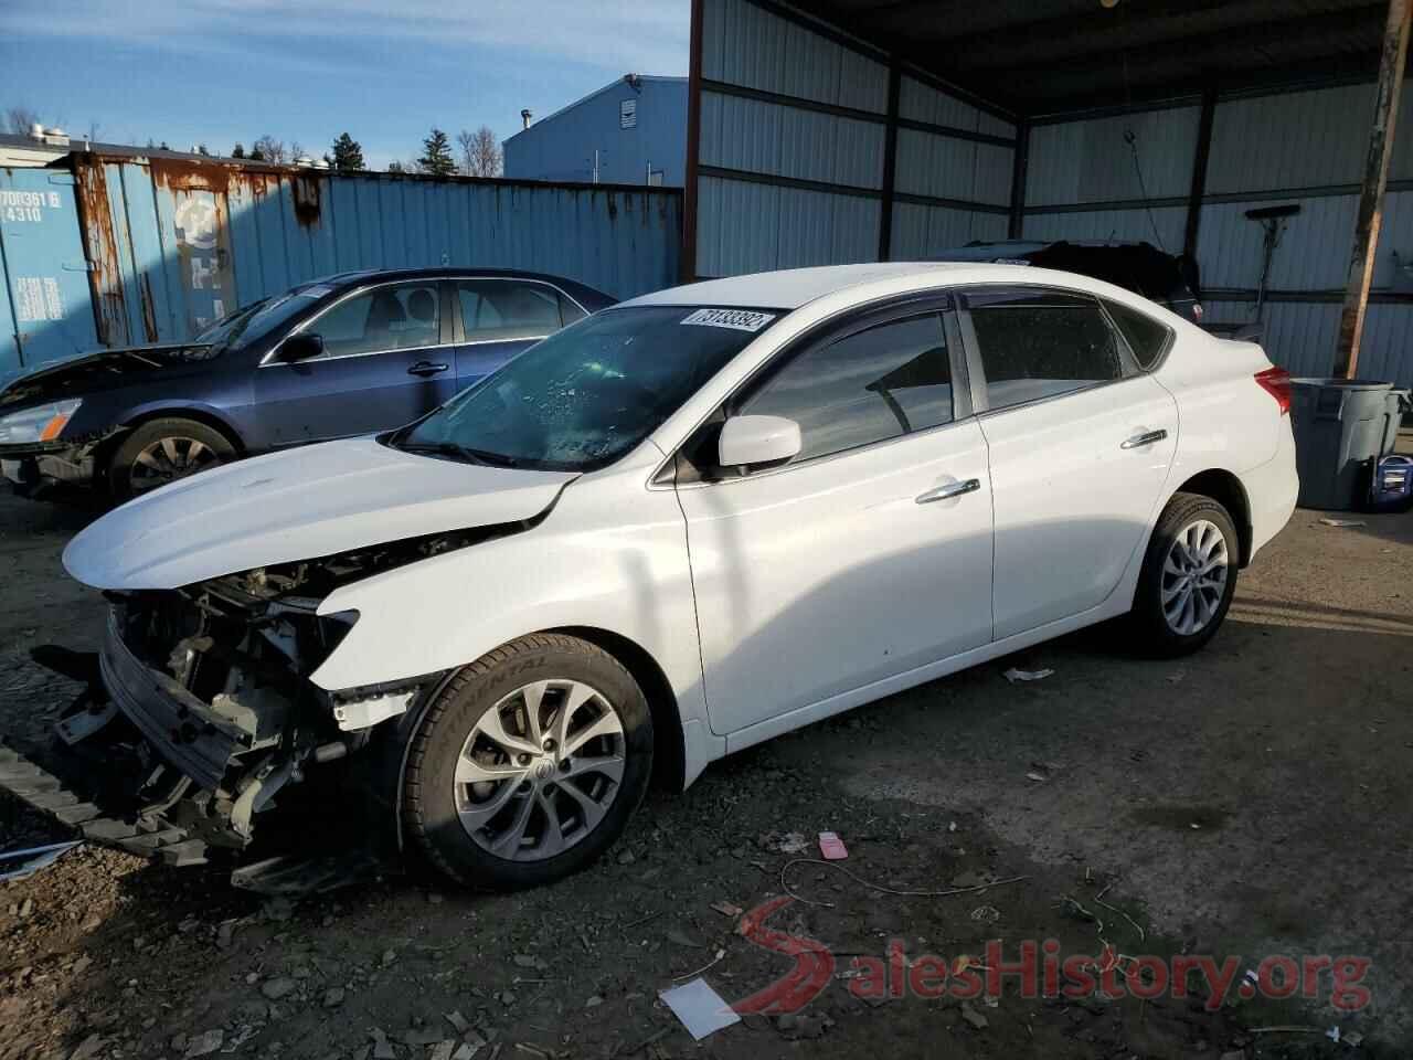
[[1084, 390], [1128, 373], [1118, 338], [1094, 298], [1063, 291], [985, 294], [972, 300], [969, 314], [991, 408]]

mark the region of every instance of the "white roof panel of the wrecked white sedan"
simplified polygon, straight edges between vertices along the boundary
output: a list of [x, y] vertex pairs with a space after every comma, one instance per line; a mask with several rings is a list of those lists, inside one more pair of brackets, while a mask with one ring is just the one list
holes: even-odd
[[[1005, 267], [1005, 266], [998, 266]], [[1022, 266], [1009, 266], [1017, 273]], [[805, 302], [876, 280], [907, 280], [935, 274], [968, 271], [966, 264], [947, 261], [873, 261], [852, 266], [814, 266], [811, 269], [781, 269], [774, 273], [750, 273], [722, 280], [705, 280], [684, 287], [670, 287], [639, 298], [634, 305], [731, 305], [771, 310], [798, 310]], [[952, 277], [947, 277], [952, 278]]]

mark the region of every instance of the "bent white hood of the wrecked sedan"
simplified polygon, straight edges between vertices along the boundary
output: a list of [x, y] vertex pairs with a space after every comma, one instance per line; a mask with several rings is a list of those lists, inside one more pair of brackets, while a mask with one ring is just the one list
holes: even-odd
[[237, 461], [109, 512], [64, 550], [100, 589], [172, 589], [253, 567], [533, 519], [572, 472], [390, 449], [373, 438]]

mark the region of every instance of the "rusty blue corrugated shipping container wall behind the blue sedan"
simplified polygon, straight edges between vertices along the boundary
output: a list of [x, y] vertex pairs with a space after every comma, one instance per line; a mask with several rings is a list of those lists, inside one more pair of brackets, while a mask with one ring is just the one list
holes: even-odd
[[677, 281], [681, 192], [75, 157], [100, 339], [205, 322], [355, 269], [528, 269], [617, 298]]

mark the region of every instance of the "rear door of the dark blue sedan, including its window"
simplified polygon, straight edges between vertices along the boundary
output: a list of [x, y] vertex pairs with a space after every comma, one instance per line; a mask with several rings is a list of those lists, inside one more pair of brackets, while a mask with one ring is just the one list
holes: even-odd
[[551, 284], [478, 276], [456, 281], [456, 384], [466, 387], [520, 351], [588, 314]]

